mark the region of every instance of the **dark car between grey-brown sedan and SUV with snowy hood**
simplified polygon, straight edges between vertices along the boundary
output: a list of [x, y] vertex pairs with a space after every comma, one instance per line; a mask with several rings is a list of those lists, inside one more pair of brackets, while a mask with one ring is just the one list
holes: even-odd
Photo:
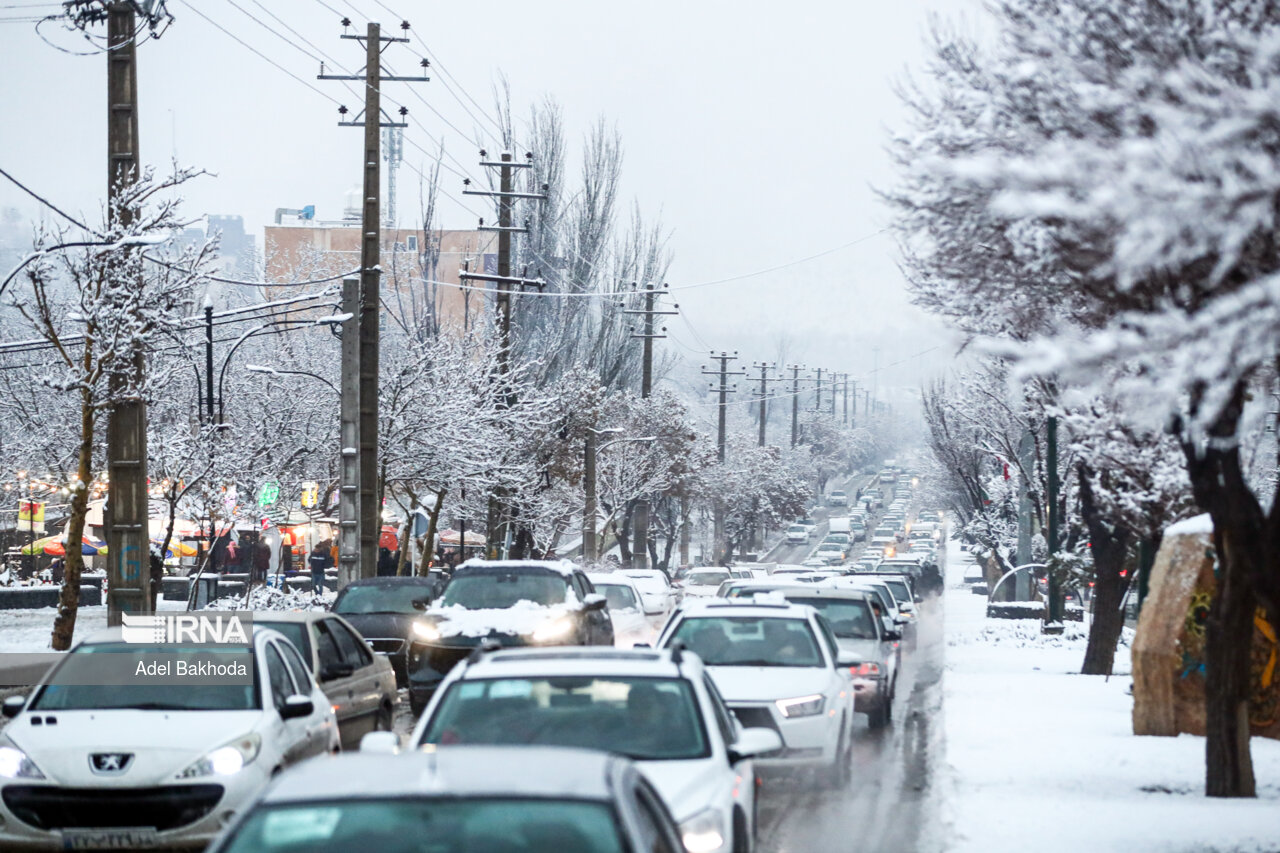
[[403, 686], [413, 625], [420, 610], [439, 594], [440, 583], [433, 578], [365, 578], [343, 587], [332, 610], [360, 631], [374, 652], [388, 657], [396, 683]]

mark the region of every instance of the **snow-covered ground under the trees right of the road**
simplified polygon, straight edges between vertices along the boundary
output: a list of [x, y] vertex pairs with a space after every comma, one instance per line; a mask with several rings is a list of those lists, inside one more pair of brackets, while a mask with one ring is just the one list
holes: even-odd
[[950, 543], [945, 821], [955, 853], [1280, 850], [1280, 742], [1253, 739], [1258, 798], [1203, 795], [1204, 739], [1133, 735], [1129, 651], [1079, 675], [1084, 629], [986, 619]]

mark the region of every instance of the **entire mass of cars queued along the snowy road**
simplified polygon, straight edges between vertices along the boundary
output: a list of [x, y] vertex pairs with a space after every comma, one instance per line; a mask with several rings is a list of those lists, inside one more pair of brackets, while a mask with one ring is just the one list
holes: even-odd
[[943, 529], [911, 479], [850, 476], [762, 560], [677, 579], [470, 560], [352, 584], [218, 647], [237, 685], [86, 685], [86, 658], [209, 652], [90, 637], [3, 704], [0, 848], [908, 849], [932, 765], [895, 726], [938, 702]]

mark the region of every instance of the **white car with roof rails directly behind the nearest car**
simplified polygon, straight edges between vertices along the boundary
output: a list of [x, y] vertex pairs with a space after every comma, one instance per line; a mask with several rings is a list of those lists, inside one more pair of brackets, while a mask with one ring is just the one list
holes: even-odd
[[658, 789], [691, 853], [753, 848], [753, 758], [782, 747], [774, 727], [744, 729], [733, 719], [696, 656], [590, 648], [504, 649], [460, 663], [411, 744], [627, 756]]

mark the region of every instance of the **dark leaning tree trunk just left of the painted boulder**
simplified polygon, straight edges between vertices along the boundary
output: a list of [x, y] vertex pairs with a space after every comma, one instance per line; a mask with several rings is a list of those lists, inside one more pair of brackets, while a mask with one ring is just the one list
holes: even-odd
[[1092, 471], [1080, 465], [1078, 475], [1080, 516], [1089, 529], [1089, 542], [1093, 546], [1093, 621], [1089, 624], [1089, 643], [1084, 649], [1080, 672], [1111, 675], [1120, 631], [1124, 629], [1124, 596], [1129, 589], [1129, 578], [1123, 573], [1129, 562], [1133, 532], [1102, 517], [1093, 494]]

